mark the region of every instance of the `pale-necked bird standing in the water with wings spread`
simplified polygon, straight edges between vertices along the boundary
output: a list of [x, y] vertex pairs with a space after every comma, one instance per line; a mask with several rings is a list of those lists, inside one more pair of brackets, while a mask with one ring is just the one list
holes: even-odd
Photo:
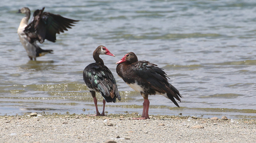
[[41, 49], [36, 44], [37, 40], [40, 43], [43, 43], [44, 39], [55, 42], [56, 33], [60, 34], [60, 32], [68, 30], [67, 28], [71, 28], [70, 26], [74, 26], [72, 24], [78, 21], [43, 11], [44, 8], [36, 10], [33, 14], [34, 19], [30, 24], [28, 24], [28, 19], [30, 18], [29, 8], [23, 7], [18, 11], [18, 13], [26, 14], [20, 21], [18, 35], [30, 60], [34, 59], [36, 61], [36, 57], [52, 52], [52, 50]]

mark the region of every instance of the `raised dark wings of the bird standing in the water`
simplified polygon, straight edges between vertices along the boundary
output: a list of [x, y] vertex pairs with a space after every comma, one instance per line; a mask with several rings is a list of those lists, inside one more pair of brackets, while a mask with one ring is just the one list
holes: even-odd
[[56, 33], [67, 31], [67, 28], [79, 21], [43, 11], [44, 7], [42, 10], [36, 10], [33, 14], [34, 20], [24, 30], [30, 43], [36, 40], [43, 43], [44, 39], [55, 42]]

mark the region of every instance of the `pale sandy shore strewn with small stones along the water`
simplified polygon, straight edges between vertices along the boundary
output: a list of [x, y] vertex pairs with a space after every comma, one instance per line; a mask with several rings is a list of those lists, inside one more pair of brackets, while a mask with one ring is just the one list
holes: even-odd
[[131, 117], [135, 116], [136, 113], [105, 117], [41, 113], [35, 116], [0, 116], [0, 142], [256, 142], [255, 119], [151, 116], [147, 120], [132, 120]]

